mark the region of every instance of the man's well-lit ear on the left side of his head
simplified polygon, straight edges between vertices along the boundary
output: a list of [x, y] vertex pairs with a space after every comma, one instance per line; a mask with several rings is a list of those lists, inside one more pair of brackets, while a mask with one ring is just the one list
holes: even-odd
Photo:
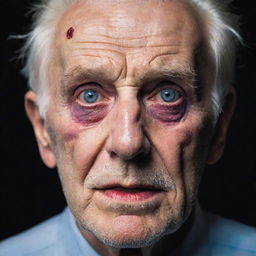
[[33, 126], [43, 162], [49, 168], [54, 168], [56, 166], [56, 159], [52, 150], [50, 136], [48, 135], [45, 122], [39, 113], [37, 95], [33, 91], [28, 91], [25, 94], [25, 110]]

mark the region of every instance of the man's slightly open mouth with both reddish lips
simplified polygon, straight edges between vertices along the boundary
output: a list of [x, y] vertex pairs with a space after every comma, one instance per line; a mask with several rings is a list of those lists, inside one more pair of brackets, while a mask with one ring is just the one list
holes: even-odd
[[143, 185], [108, 185], [98, 189], [98, 191], [109, 199], [131, 203], [146, 201], [164, 192], [163, 189]]

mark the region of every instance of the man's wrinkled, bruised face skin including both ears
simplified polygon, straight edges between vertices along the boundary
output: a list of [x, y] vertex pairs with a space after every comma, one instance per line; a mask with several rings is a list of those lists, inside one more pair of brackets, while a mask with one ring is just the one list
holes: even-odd
[[[153, 252], [187, 220], [205, 163], [222, 154], [235, 93], [214, 125], [199, 24], [180, 0], [82, 1], [55, 24], [46, 120], [34, 92], [25, 106], [43, 161], [57, 164], [81, 233], [101, 255]], [[176, 91], [173, 102], [164, 88]], [[95, 103], [84, 101], [87, 89]]]

